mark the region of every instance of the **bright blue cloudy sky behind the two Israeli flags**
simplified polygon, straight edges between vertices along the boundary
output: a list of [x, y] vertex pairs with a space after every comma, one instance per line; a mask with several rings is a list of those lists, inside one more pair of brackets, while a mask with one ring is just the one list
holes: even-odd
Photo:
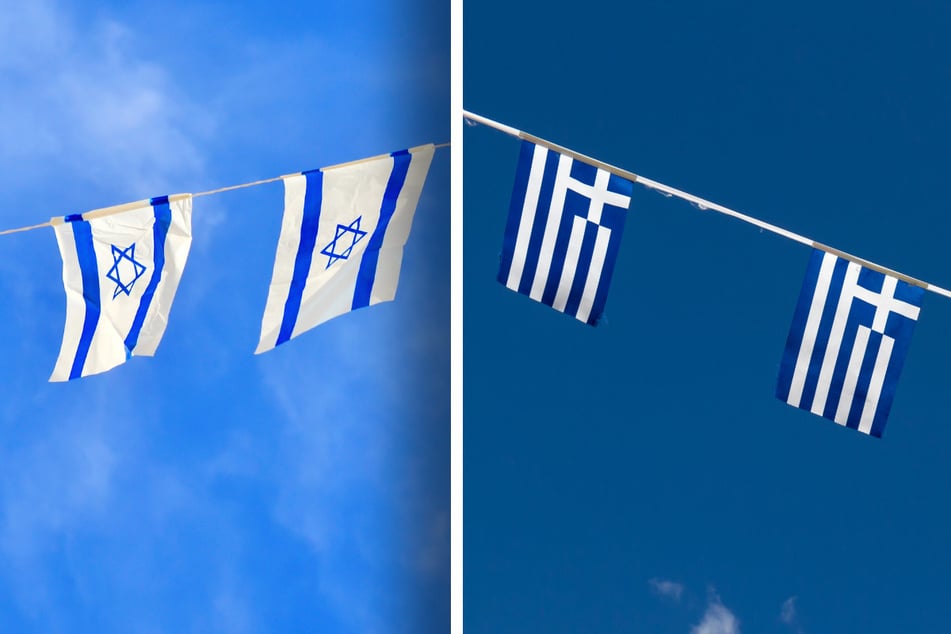
[[[0, 8], [0, 228], [449, 140], [445, 2]], [[69, 384], [0, 240], [0, 631], [446, 631], [449, 152], [397, 300], [254, 356], [282, 205], [196, 199], [157, 356]]]

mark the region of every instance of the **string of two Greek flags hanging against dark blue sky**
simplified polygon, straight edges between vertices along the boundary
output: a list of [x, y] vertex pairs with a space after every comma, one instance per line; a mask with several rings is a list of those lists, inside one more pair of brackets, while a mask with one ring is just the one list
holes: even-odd
[[882, 436], [924, 293], [951, 292], [481, 115], [463, 116], [522, 139], [499, 282], [597, 325], [635, 182], [811, 246], [776, 396]]

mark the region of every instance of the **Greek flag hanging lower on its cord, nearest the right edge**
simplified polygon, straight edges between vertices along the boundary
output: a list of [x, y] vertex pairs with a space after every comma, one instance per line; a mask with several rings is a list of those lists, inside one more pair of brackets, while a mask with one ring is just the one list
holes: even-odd
[[776, 396], [881, 437], [924, 289], [816, 249]]

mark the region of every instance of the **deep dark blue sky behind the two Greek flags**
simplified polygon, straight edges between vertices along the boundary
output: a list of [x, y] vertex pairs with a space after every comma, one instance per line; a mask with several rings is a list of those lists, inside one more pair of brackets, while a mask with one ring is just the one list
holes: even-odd
[[[478, 114], [951, 286], [941, 2], [467, 3]], [[519, 141], [464, 130], [465, 626], [951, 618], [951, 301], [883, 439], [774, 396], [810, 250], [635, 185], [597, 328], [495, 281]]]

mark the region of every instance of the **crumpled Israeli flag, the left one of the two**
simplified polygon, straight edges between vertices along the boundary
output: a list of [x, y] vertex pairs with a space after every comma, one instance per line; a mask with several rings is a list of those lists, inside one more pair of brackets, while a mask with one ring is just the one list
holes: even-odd
[[155, 354], [191, 247], [190, 194], [52, 219], [66, 327], [50, 381]]

